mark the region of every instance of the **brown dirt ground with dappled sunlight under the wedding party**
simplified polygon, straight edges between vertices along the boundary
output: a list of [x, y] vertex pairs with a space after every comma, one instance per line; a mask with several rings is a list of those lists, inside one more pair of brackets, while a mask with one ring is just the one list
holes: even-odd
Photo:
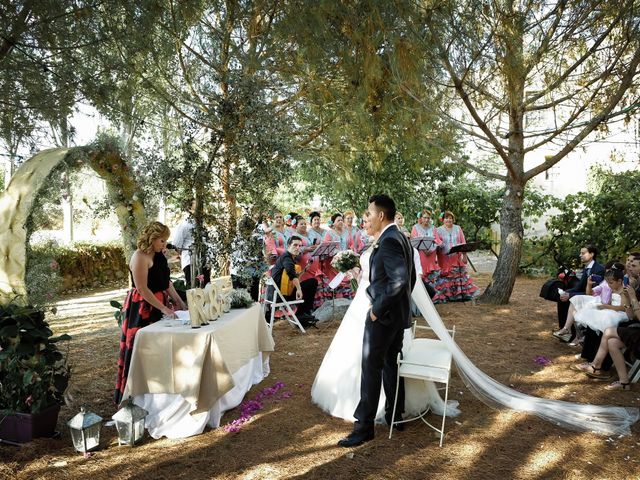
[[[477, 279], [480, 286], [488, 281], [487, 274]], [[538, 297], [543, 281], [519, 278], [506, 306], [447, 304], [438, 306], [438, 311], [447, 326], [455, 324], [456, 340], [469, 358], [506, 385], [548, 398], [640, 406], [640, 386], [631, 392], [608, 392], [604, 383], [569, 370], [577, 351], [551, 336], [557, 324], [555, 304]], [[564, 430], [534, 416], [485, 406], [457, 373], [450, 398], [460, 402], [462, 413], [447, 419], [442, 448], [437, 435], [419, 422], [394, 433], [391, 440], [387, 428], [378, 426], [376, 438], [363, 446], [336, 446], [351, 425], [315, 407], [310, 388], [337, 321], [307, 335], [284, 324], [274, 327], [271, 375], [254, 386], [246, 399], [276, 382], [285, 384], [280, 392], [286, 395], [265, 401], [239, 432], [218, 428], [183, 440], [147, 436], [132, 449], [118, 447], [115, 428], [105, 427], [101, 450], [85, 458], [71, 447], [66, 421], [81, 404], [105, 419], [115, 412], [111, 398], [118, 328], [108, 300], [122, 300], [123, 292], [61, 302], [51, 323], [55, 333], [73, 335], [72, 405], [60, 413], [60, 438], [37, 439], [22, 447], [0, 446], [0, 478], [640, 478], [639, 425], [627, 437]], [[551, 363], [537, 364], [538, 356]], [[238, 409], [227, 412], [223, 425], [239, 415]]]

